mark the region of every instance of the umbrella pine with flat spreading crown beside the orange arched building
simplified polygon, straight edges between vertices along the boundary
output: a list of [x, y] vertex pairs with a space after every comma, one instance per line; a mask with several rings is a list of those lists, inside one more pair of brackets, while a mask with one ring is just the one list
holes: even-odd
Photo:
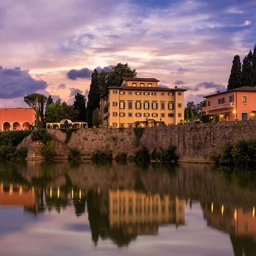
[[30, 108], [34, 109], [36, 111], [36, 123], [39, 124], [39, 116], [41, 119], [41, 123], [43, 126], [44, 123], [44, 105], [46, 104], [46, 96], [39, 93], [32, 93], [24, 97], [24, 102]]

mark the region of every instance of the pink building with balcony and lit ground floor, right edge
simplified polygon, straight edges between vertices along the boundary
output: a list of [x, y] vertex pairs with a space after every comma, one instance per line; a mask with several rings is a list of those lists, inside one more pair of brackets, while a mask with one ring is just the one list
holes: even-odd
[[256, 119], [256, 87], [243, 86], [204, 97], [203, 111], [211, 122]]

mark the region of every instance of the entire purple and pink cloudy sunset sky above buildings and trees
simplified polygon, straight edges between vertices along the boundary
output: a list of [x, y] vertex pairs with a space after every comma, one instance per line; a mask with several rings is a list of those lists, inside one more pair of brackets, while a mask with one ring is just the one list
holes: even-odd
[[120, 62], [199, 102], [253, 49], [255, 13], [255, 0], [1, 0], [0, 108], [35, 92], [72, 104]]

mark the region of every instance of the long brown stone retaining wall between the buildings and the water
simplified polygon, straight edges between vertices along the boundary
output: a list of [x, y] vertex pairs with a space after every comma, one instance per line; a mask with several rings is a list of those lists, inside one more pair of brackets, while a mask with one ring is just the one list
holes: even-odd
[[[146, 128], [139, 142], [132, 128], [81, 129], [72, 134], [68, 144], [65, 144], [66, 134], [63, 131], [48, 131], [55, 137], [56, 158], [61, 159], [67, 158], [69, 148], [77, 148], [85, 158], [89, 158], [96, 151], [111, 150], [113, 157], [119, 152], [130, 156], [143, 146], [153, 151], [155, 147], [160, 149], [174, 145], [180, 160], [212, 162], [210, 156], [217, 154], [223, 144], [233, 144], [241, 138], [255, 139], [256, 121]], [[35, 159], [30, 148], [33, 143], [30, 145], [28, 158]]]

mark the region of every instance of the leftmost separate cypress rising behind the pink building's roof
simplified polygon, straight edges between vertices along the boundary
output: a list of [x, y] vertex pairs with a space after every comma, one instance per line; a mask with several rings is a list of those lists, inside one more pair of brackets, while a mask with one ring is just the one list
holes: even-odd
[[228, 90], [236, 89], [241, 86], [241, 61], [240, 56], [234, 56], [233, 65], [231, 68]]

